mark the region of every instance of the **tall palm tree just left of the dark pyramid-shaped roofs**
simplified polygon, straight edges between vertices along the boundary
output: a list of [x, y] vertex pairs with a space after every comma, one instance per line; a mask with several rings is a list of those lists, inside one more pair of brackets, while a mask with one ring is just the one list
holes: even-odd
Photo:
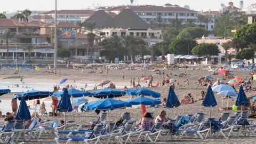
[[[85, 27], [85, 30], [87, 31], [89, 45], [90, 45], [90, 47], [92, 47], [93, 43], [94, 43], [94, 37], [95, 37], [93, 30], [95, 29], [96, 22], [95, 21], [85, 22], [85, 23], [83, 23], [83, 26]], [[91, 59], [92, 59], [92, 51], [91, 51]]]

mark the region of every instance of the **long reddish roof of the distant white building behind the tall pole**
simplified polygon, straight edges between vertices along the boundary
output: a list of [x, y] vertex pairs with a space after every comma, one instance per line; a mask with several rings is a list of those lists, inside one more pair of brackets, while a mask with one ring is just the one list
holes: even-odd
[[[57, 11], [57, 14], [93, 14], [95, 11], [92, 10], [59, 10]], [[48, 11], [41, 14], [54, 14], [55, 11]]]

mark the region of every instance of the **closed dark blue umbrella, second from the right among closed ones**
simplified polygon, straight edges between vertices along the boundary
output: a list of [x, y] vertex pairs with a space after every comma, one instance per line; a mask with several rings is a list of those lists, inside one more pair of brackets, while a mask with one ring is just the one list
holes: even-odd
[[217, 106], [217, 101], [215, 100], [211, 85], [208, 86], [202, 105], [205, 107]]

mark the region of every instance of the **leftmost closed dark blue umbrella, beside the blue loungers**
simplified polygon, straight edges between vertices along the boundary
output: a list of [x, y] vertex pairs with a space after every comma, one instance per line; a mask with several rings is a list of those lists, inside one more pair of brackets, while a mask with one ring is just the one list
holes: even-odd
[[24, 121], [31, 119], [30, 112], [24, 97], [21, 98], [20, 106], [15, 119]]

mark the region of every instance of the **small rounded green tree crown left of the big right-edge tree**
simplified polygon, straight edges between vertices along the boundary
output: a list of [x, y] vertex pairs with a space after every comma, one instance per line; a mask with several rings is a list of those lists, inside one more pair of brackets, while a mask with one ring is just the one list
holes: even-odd
[[199, 57], [210, 57], [212, 55], [218, 55], [220, 53], [216, 44], [202, 43], [193, 47], [191, 51], [194, 55]]

